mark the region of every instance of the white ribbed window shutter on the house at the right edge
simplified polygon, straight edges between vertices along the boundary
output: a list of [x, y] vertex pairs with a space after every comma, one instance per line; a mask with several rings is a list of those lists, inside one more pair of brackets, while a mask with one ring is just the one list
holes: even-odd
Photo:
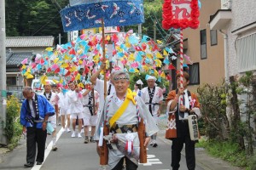
[[256, 70], [256, 33], [237, 39], [238, 69], [240, 72]]

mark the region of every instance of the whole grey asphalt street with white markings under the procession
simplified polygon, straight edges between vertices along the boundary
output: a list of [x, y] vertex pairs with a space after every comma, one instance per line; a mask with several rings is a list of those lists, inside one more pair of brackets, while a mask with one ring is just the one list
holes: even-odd
[[[60, 128], [60, 127], [59, 127]], [[163, 134], [159, 134], [163, 136]], [[83, 135], [84, 136], [84, 135]], [[34, 166], [32, 170], [95, 170], [99, 169], [99, 157], [96, 154], [96, 143], [84, 144], [84, 138], [71, 138], [71, 133], [57, 135], [59, 150], [51, 151], [51, 143], [48, 140], [48, 148], [45, 150], [45, 161], [42, 166]], [[153, 148], [148, 146], [148, 162], [140, 164], [140, 170], [169, 170], [171, 169], [171, 145], [163, 139], [158, 139], [159, 146]], [[24, 169], [26, 162], [26, 140], [21, 139], [20, 145], [13, 152], [10, 152], [0, 163], [0, 170]], [[182, 156], [181, 170], [187, 169], [185, 158]], [[196, 167], [196, 170], [202, 170]]]

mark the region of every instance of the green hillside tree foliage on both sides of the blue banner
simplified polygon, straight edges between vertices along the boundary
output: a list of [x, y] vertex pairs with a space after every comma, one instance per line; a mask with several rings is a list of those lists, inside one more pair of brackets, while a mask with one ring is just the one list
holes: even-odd
[[[6, 0], [6, 34], [8, 37], [54, 36], [62, 35], [61, 42], [67, 42], [67, 33], [63, 32], [61, 8], [68, 0]], [[156, 21], [156, 39], [166, 37], [161, 27], [163, 0], [145, 0], [145, 22], [143, 35], [154, 37], [154, 20]], [[59, 7], [60, 5], [60, 7]], [[125, 31], [137, 26], [125, 26]], [[56, 38], [57, 40], [57, 38]]]

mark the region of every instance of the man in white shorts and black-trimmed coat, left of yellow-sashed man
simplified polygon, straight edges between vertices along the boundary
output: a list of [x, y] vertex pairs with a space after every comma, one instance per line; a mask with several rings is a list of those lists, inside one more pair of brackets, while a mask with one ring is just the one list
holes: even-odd
[[[89, 142], [89, 127], [91, 127], [90, 142], [95, 142], [93, 137], [95, 134], [96, 123], [98, 120], [97, 112], [99, 109], [100, 99], [99, 94], [93, 88], [93, 85], [87, 83], [85, 84], [85, 89], [82, 91], [82, 103], [84, 106], [84, 144], [87, 144]], [[92, 90], [94, 90], [93, 93]], [[93, 101], [95, 101], [95, 103]]]

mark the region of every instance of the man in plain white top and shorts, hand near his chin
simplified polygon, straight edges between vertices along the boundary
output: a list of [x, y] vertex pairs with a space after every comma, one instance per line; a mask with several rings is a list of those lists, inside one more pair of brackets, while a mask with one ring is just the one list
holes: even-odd
[[73, 133], [72, 138], [76, 137], [76, 121], [79, 118], [79, 132], [78, 138], [82, 138], [82, 119], [83, 119], [83, 104], [82, 104], [82, 94], [79, 92], [79, 88], [75, 87], [74, 82], [69, 83], [70, 91], [67, 92], [68, 98], [68, 109], [67, 112], [71, 114]]

